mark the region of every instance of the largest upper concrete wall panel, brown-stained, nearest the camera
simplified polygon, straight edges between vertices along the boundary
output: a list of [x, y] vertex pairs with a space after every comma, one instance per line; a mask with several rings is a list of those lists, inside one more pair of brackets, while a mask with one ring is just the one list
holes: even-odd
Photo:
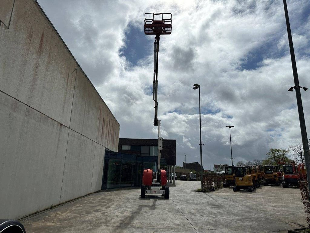
[[15, 0], [0, 54], [0, 90], [69, 127], [77, 64], [33, 0]]

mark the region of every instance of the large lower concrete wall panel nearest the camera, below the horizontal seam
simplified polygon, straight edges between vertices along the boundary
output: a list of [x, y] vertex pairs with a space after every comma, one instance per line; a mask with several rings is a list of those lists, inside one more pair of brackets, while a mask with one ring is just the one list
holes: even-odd
[[0, 92], [0, 219], [59, 204], [69, 129]]

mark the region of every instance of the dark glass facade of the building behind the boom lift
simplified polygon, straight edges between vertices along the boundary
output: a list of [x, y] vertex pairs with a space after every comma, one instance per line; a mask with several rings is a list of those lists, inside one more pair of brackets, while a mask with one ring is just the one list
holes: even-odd
[[[142, 149], [143, 152], [147, 152], [147, 148], [143, 147], [139, 148], [141, 152]], [[140, 186], [142, 184], [143, 170], [145, 168], [155, 170], [157, 167], [158, 153], [151, 151], [153, 146], [147, 147], [148, 154], [144, 153], [141, 155], [106, 151], [101, 189]], [[157, 150], [157, 146], [156, 149], [153, 148], [152, 150]], [[167, 160], [161, 159], [161, 169], [166, 170], [166, 167]]]

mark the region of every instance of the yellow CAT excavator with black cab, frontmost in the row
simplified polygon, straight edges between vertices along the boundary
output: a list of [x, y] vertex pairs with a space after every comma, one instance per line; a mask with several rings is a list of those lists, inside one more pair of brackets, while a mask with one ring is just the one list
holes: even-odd
[[236, 176], [236, 185], [232, 188], [234, 192], [239, 190], [248, 190], [249, 192], [252, 192], [256, 189], [253, 185], [252, 176], [248, 175], [250, 171], [247, 167], [235, 166], [233, 168]]

